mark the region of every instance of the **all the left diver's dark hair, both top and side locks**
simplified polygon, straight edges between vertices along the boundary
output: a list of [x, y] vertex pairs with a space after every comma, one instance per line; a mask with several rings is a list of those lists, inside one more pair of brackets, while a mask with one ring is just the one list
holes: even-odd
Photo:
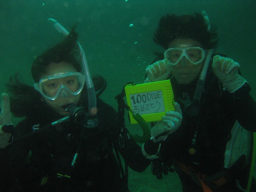
[[[72, 28], [70, 34], [62, 42], [36, 58], [32, 64], [32, 76], [35, 82], [40, 80], [40, 76], [47, 72], [48, 66], [52, 63], [68, 62], [78, 72], [81, 72], [81, 66], [76, 57], [78, 55], [77, 38], [78, 34]], [[40, 101], [41, 94], [34, 87], [25, 84], [18, 74], [10, 78], [6, 87], [10, 92], [11, 112], [14, 116], [23, 117], [35, 113], [41, 116], [45, 110], [49, 110], [49, 107]]]

